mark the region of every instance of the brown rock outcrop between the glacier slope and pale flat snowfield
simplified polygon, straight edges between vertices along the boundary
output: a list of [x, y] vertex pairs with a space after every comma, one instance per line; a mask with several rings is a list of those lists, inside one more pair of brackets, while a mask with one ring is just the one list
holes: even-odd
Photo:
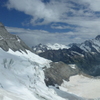
[[51, 63], [51, 67], [44, 70], [46, 85], [61, 85], [63, 80], [68, 81], [70, 76], [79, 74], [79, 69], [75, 66], [75, 69], [71, 68], [63, 62]]

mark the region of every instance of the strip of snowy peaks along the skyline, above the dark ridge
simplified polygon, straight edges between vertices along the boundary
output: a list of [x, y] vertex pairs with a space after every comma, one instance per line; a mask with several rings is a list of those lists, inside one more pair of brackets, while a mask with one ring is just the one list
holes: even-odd
[[63, 45], [63, 44], [59, 44], [59, 43], [54, 43], [54, 44], [38, 44], [36, 46], [33, 46], [32, 49], [34, 52], [36, 53], [42, 53], [45, 52], [47, 50], [59, 50], [59, 49], [69, 49], [72, 46], [77, 46], [80, 49], [84, 50], [85, 52], [100, 52], [100, 35], [96, 36], [94, 39], [92, 40], [86, 40], [83, 43], [72, 43], [69, 45]]

